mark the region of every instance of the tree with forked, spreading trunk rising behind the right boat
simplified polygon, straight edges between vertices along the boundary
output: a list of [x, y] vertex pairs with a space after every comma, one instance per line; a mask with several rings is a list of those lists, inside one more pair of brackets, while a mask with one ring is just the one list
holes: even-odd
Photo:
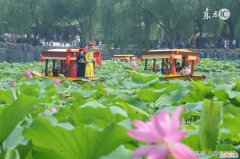
[[189, 5], [185, 0], [148, 0], [142, 6], [142, 10], [164, 31], [169, 47], [174, 47], [174, 39], [190, 34], [192, 21]]

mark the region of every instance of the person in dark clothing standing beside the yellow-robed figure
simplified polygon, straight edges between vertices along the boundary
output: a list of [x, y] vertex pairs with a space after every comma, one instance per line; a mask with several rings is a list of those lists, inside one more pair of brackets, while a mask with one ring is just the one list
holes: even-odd
[[81, 48], [79, 50], [79, 54], [77, 56], [77, 77], [84, 77], [85, 76], [85, 67], [86, 67], [86, 58], [85, 58], [86, 51]]

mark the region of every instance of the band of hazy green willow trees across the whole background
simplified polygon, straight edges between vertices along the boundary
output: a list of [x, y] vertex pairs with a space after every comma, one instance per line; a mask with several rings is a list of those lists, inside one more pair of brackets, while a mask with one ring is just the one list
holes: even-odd
[[[0, 33], [64, 41], [80, 35], [120, 48], [156, 47], [159, 40], [174, 47], [201, 38], [217, 44], [240, 39], [239, 7], [237, 0], [0, 0]], [[204, 20], [207, 8], [211, 19]], [[212, 17], [221, 8], [231, 12], [228, 20]]]

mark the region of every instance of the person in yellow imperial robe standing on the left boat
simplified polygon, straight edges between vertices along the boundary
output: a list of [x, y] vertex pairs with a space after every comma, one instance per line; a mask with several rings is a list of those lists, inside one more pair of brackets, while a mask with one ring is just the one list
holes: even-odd
[[85, 58], [86, 58], [85, 77], [86, 78], [94, 77], [93, 46], [94, 46], [94, 44], [91, 44], [91, 43], [88, 44], [88, 52], [85, 54]]

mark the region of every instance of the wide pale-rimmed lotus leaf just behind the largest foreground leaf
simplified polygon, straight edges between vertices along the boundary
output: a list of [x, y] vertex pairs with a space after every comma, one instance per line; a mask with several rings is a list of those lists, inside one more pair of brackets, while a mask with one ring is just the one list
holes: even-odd
[[127, 114], [119, 107], [105, 107], [98, 102], [88, 102], [82, 106], [65, 107], [57, 113], [61, 122], [69, 122], [74, 126], [81, 124], [93, 124], [100, 128], [110, 122], [120, 122], [127, 118]]

